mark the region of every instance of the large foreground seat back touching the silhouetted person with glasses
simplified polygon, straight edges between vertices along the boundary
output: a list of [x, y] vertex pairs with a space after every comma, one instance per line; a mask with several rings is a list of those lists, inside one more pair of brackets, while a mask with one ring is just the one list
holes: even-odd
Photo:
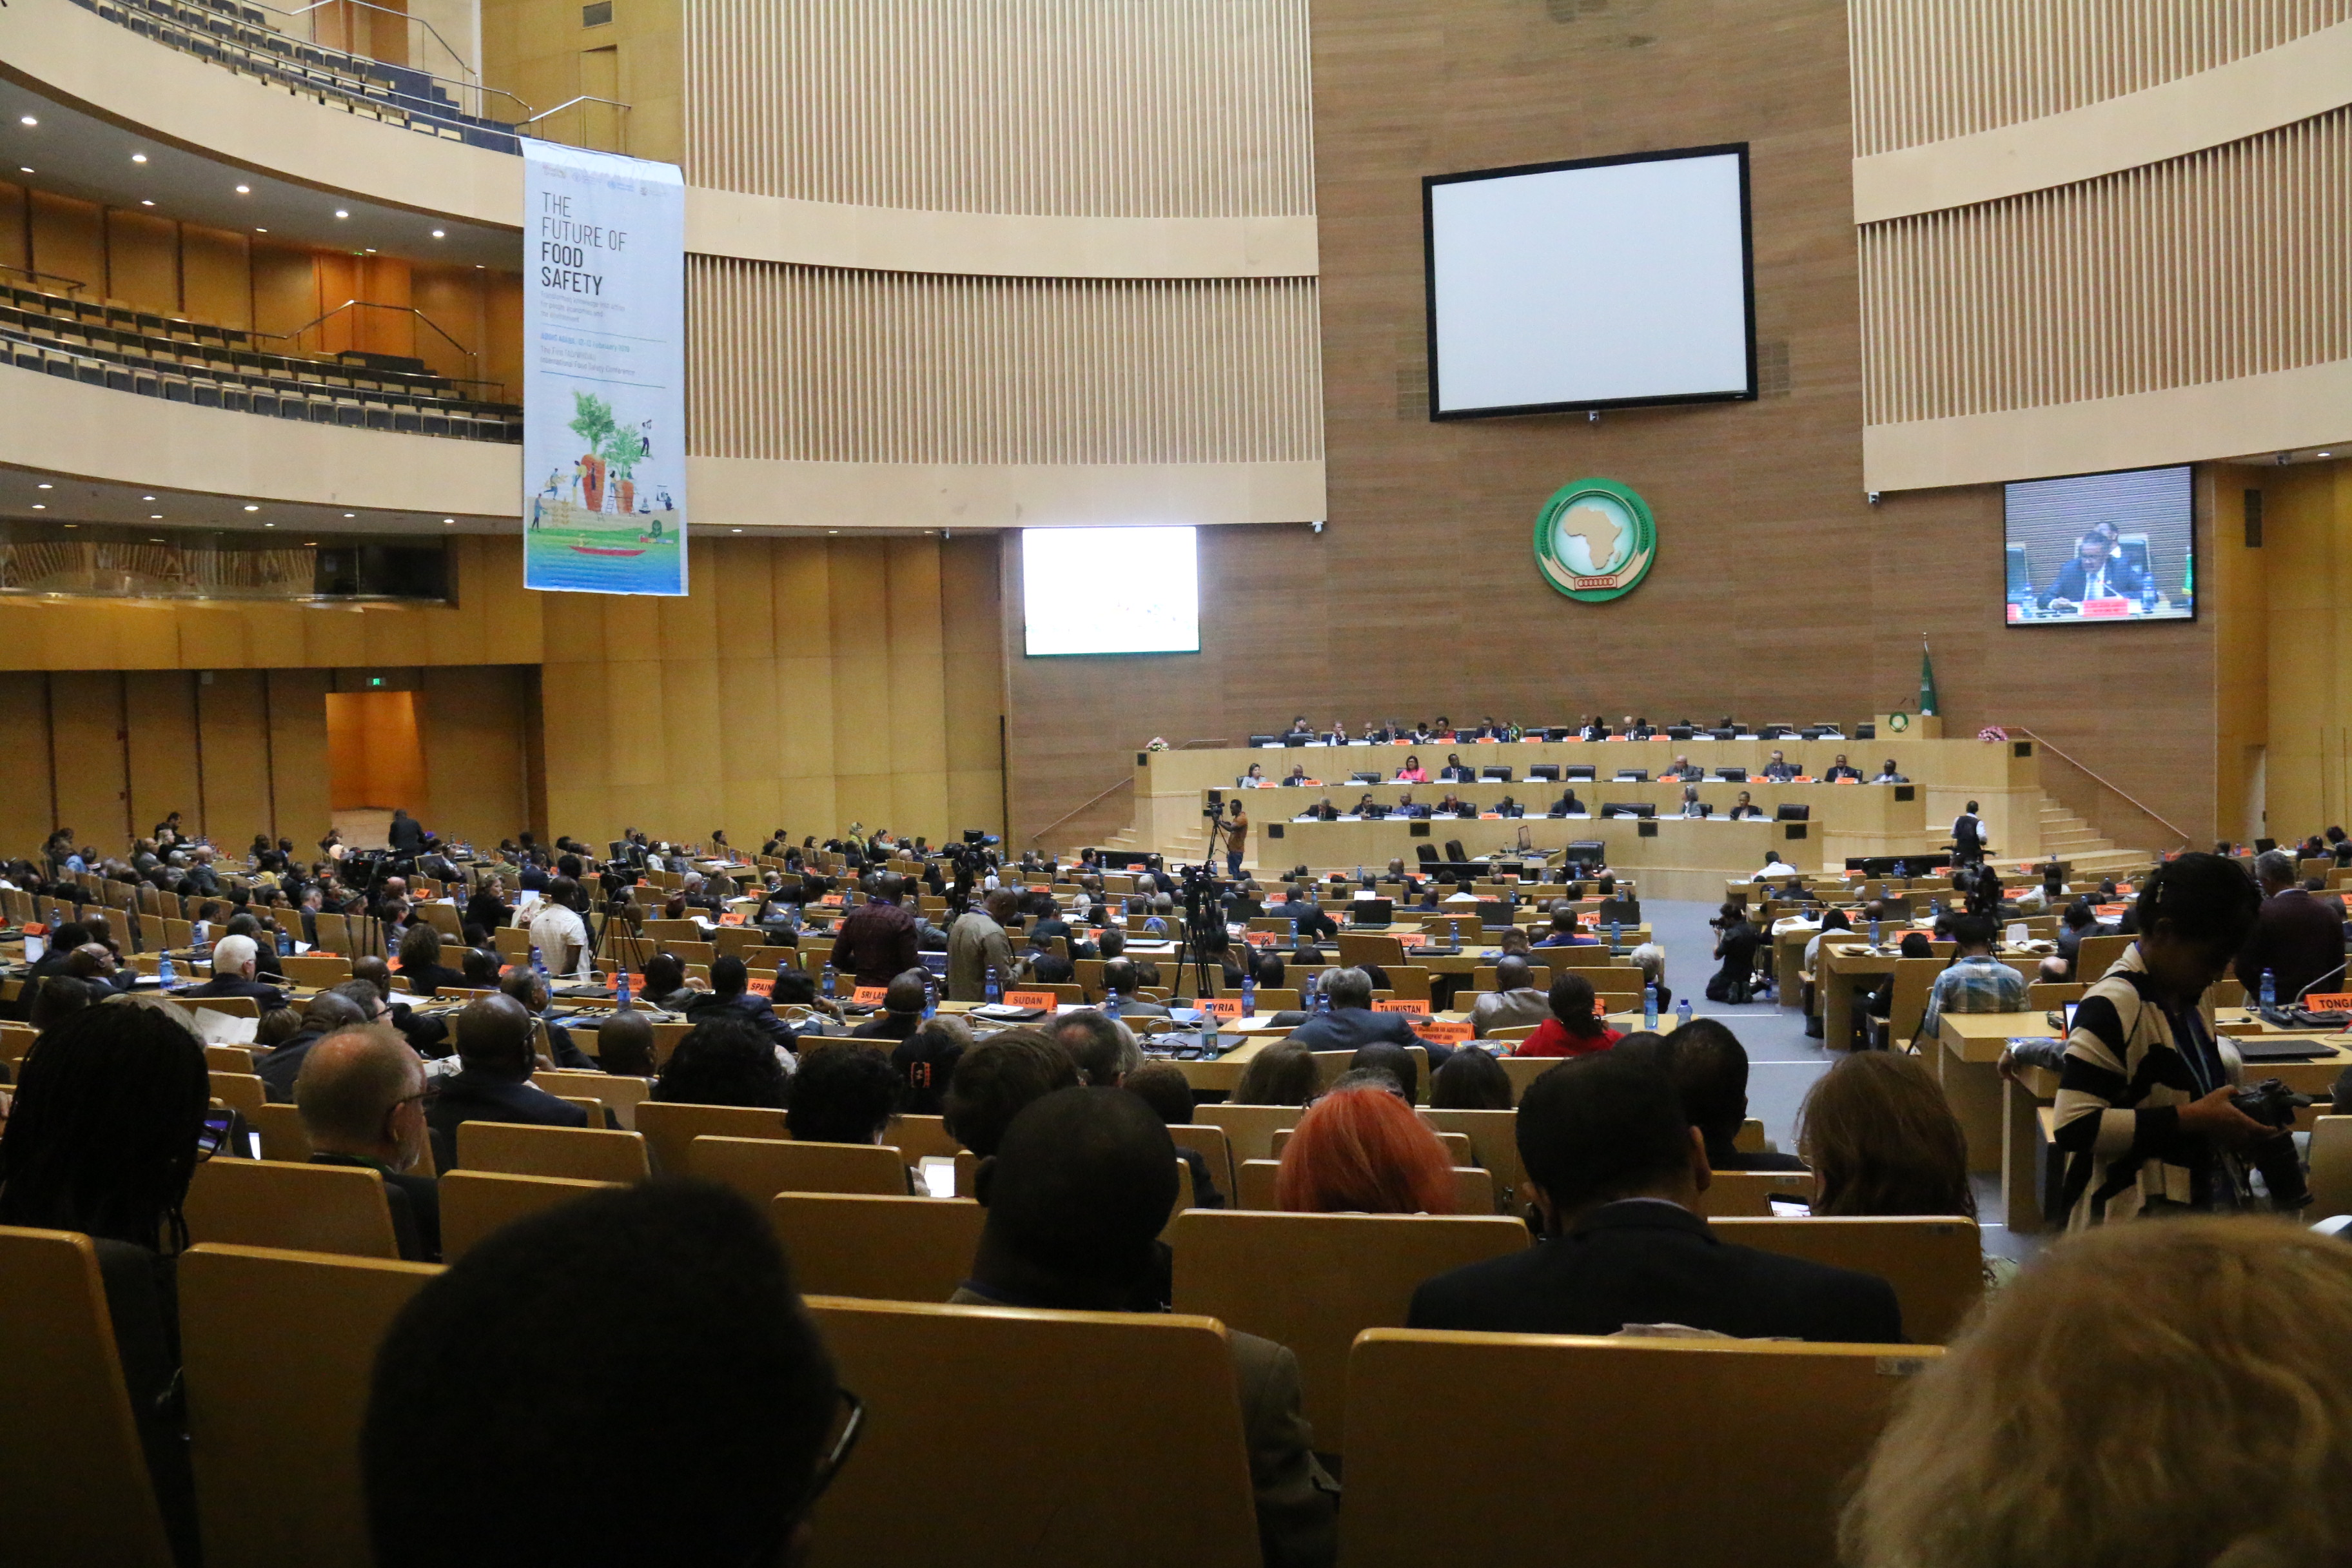
[[[856, 1462], [816, 1505], [809, 1568], [1258, 1568], [1218, 1324], [837, 1295], [809, 1309], [866, 1403]], [[1136, 1483], [1077, 1481], [1105, 1460]]]

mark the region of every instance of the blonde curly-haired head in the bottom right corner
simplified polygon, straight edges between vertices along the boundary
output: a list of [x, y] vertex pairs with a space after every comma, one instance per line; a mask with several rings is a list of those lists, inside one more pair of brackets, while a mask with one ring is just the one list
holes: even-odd
[[1839, 1559], [2340, 1563], [2352, 1556], [2347, 1338], [2340, 1239], [2249, 1220], [2072, 1237], [1907, 1380], [1846, 1507]]

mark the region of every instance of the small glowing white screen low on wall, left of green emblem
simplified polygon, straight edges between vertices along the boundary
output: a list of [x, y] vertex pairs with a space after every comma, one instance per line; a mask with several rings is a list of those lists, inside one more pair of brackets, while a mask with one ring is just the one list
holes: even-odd
[[1021, 529], [1035, 654], [1200, 654], [1192, 529]]

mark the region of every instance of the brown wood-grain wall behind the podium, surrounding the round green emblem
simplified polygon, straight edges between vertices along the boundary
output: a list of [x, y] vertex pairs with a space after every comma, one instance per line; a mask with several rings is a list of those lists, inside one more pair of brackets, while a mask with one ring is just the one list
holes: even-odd
[[[1014, 844], [1129, 776], [1152, 736], [1240, 741], [1301, 708], [1851, 722], [1917, 691], [1922, 635], [1950, 729], [2030, 724], [2209, 825], [2211, 621], [2103, 630], [2096, 649], [2011, 632], [1997, 489], [1867, 505], [1844, 28], [1842, 0], [1637, 16], [1322, 0], [1329, 527], [1204, 529], [1197, 656], [1009, 654]], [[1785, 393], [1597, 423], [1428, 421], [1423, 174], [1715, 141], [1752, 148], [1757, 336], [1785, 350]], [[1658, 515], [1649, 581], [1611, 604], [1559, 597], [1529, 557], [1536, 510], [1581, 475]], [[1120, 790], [1054, 839], [1127, 820]]]

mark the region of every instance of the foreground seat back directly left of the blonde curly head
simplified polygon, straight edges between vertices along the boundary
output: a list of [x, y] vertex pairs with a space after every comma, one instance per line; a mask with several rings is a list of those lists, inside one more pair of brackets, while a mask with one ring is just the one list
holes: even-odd
[[[1374, 1328], [1348, 1359], [1341, 1561], [1835, 1563], [1851, 1474], [1940, 1354]], [[1477, 1462], [1432, 1483], [1454, 1443]]]

